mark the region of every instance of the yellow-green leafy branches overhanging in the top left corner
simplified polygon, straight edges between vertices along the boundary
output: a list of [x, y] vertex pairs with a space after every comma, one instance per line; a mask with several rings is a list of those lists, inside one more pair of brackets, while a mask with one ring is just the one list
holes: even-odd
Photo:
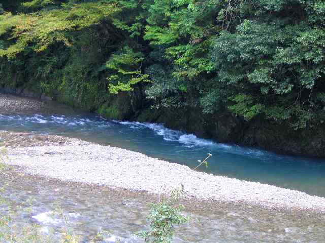
[[[8, 48], [0, 49], [0, 57], [14, 58], [18, 53], [26, 52], [30, 48], [41, 52], [55, 42], [72, 45], [67, 32], [99, 24], [118, 11], [115, 5], [91, 2], [78, 5], [62, 4], [61, 9], [42, 11], [38, 14], [1, 15], [0, 36], [6, 36], [4, 39]], [[13, 39], [15, 42], [11, 41]]]

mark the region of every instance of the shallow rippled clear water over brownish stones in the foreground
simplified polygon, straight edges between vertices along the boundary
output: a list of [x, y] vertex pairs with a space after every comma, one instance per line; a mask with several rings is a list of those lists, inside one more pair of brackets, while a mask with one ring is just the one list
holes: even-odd
[[[82, 242], [88, 242], [99, 230], [111, 233], [104, 234], [106, 239], [120, 237], [125, 243], [142, 242], [134, 233], [146, 229], [148, 204], [157, 200], [156, 196], [117, 192], [106, 187], [17, 177], [15, 173], [8, 176], [18, 178], [4, 193], [16, 206], [21, 206], [14, 217], [16, 224], [37, 223], [41, 231], [53, 231], [58, 237], [64, 223], [60, 217], [51, 217], [49, 212], [60, 205], [68, 216], [69, 227], [82, 235]], [[8, 176], [0, 177], [0, 183]], [[26, 204], [28, 198], [36, 200]], [[323, 215], [312, 212], [270, 211], [239, 204], [200, 205], [188, 201], [185, 208], [185, 214], [191, 219], [188, 224], [177, 227], [175, 243], [320, 243], [325, 236]], [[4, 209], [0, 206], [0, 214]]]

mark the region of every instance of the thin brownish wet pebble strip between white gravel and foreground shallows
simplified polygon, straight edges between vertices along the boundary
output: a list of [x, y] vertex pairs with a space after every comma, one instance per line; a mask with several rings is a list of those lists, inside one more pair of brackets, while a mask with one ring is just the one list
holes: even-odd
[[[145, 201], [148, 205], [151, 203], [157, 203], [159, 198], [162, 197], [169, 198], [170, 194], [156, 194], [151, 193], [145, 190], [132, 190], [127, 188], [117, 188], [111, 187], [109, 185], [100, 185], [100, 184], [90, 184], [86, 182], [74, 182], [69, 180], [61, 180], [56, 178], [44, 177], [32, 173], [26, 173], [26, 167], [16, 166], [16, 165], [8, 165], [6, 169], [6, 176], [8, 180], [12, 180], [13, 178], [20, 177], [20, 180], [38, 180], [42, 183], [50, 184], [55, 187], [60, 186], [69, 186], [71, 188], [81, 188], [83, 190], [89, 191], [109, 191], [114, 196], [120, 198], [121, 204], [123, 205], [123, 201], [127, 201], [128, 199], [138, 198], [142, 201]], [[268, 208], [263, 207], [261, 205], [251, 205], [242, 202], [220, 202], [214, 199], [202, 199], [196, 197], [188, 197], [188, 196], [180, 196], [178, 204], [181, 204], [185, 207], [186, 212], [197, 212], [206, 214], [207, 212], [214, 212], [215, 210], [224, 210], [229, 211], [233, 210], [250, 210], [250, 211], [258, 211], [258, 212], [267, 212], [268, 214], [275, 215], [277, 213], [283, 212], [286, 215], [300, 215], [301, 218], [304, 217], [318, 217], [325, 214], [324, 212], [317, 210], [310, 211], [302, 211], [301, 209], [288, 209], [288, 208]]]

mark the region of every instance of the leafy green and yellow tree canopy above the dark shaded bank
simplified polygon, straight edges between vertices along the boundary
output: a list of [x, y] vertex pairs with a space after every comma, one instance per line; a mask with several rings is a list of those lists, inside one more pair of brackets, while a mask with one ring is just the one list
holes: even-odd
[[325, 116], [324, 25], [321, 0], [3, 1], [0, 57], [53, 58], [91, 33], [101, 55], [77, 83], [301, 129]]

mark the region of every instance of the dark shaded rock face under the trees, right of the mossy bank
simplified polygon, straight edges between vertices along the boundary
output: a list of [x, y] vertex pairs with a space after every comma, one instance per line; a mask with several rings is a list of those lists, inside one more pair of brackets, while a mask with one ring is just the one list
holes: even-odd
[[221, 143], [259, 147], [283, 154], [325, 157], [325, 126], [293, 130], [288, 124], [276, 124], [262, 118], [247, 122], [230, 112], [203, 115], [199, 109], [193, 108], [144, 109], [134, 119], [164, 123], [169, 128]]

